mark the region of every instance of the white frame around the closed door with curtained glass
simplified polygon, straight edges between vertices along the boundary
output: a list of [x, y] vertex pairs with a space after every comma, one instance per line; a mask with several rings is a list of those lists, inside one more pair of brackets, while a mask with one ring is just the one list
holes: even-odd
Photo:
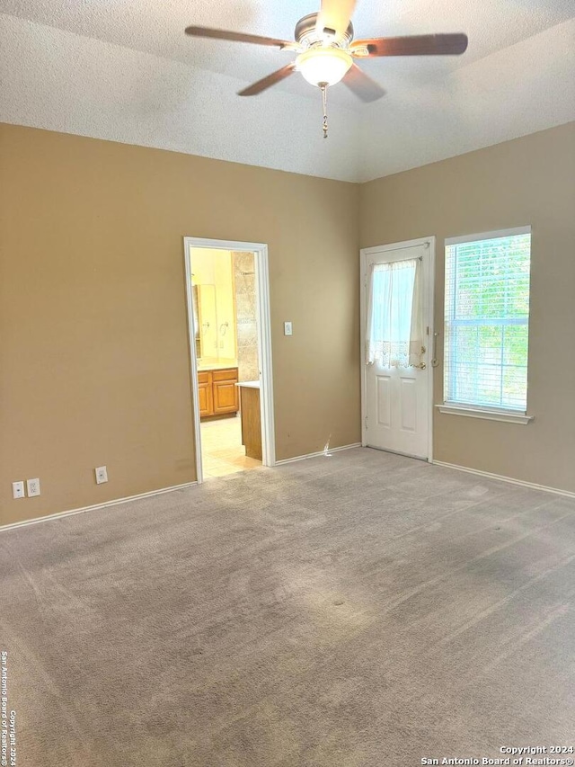
[[375, 247], [364, 247], [359, 251], [360, 270], [360, 367], [361, 367], [361, 446], [367, 446], [367, 377], [366, 377], [366, 288], [367, 288], [367, 256], [385, 253], [391, 250], [403, 250], [404, 248], [423, 245], [429, 248], [429, 285], [427, 294], [428, 311], [425, 324], [428, 331], [428, 462], [433, 463], [433, 370], [435, 370], [435, 336], [434, 336], [434, 296], [435, 296], [435, 236], [420, 237], [416, 240], [405, 240], [400, 243], [388, 243]]

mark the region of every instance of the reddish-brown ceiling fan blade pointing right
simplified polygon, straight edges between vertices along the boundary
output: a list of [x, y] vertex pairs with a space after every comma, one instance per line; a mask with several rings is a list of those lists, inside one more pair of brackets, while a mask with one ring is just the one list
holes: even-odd
[[356, 40], [349, 46], [349, 52], [359, 58], [369, 58], [370, 56], [449, 56], [464, 53], [466, 48], [467, 35], [456, 33]]

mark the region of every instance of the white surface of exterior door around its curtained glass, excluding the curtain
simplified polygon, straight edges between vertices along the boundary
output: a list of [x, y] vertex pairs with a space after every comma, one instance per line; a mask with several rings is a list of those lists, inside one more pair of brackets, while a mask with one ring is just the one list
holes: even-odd
[[[421, 259], [424, 317], [430, 324], [429, 279], [430, 249], [424, 245], [375, 249], [365, 256], [365, 274], [372, 263], [395, 263]], [[374, 281], [374, 285], [376, 281]], [[367, 307], [367, 285], [364, 287], [364, 307]], [[376, 289], [377, 290], [377, 289]], [[366, 317], [364, 312], [364, 339]], [[428, 328], [429, 332], [429, 328]], [[386, 368], [379, 361], [365, 366], [364, 376], [364, 443], [380, 450], [429, 457], [429, 335], [426, 336], [423, 369], [416, 367]], [[365, 344], [362, 344], [365, 345]]]

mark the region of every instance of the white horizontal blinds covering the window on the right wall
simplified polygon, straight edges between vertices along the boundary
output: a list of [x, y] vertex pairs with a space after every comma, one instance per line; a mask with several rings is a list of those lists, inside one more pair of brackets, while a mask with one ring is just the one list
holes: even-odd
[[446, 247], [446, 402], [526, 412], [531, 235]]

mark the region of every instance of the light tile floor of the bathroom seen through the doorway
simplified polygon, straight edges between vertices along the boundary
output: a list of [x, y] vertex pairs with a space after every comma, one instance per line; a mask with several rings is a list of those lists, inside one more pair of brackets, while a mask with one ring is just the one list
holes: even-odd
[[239, 415], [202, 421], [200, 428], [204, 479], [261, 467], [261, 460], [245, 455]]

